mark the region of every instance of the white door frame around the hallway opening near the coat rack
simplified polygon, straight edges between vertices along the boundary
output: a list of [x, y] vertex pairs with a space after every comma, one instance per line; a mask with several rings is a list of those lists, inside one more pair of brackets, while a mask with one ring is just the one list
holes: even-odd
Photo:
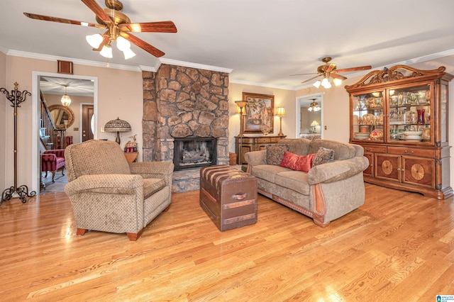
[[94, 106], [94, 139], [98, 138], [98, 77], [89, 77], [74, 74], [58, 74], [54, 72], [32, 72], [32, 105], [31, 105], [31, 191], [40, 191], [40, 154], [39, 154], [39, 131], [38, 121], [40, 121], [40, 77], [60, 77], [65, 79], [87, 79], [93, 81], [93, 106]]

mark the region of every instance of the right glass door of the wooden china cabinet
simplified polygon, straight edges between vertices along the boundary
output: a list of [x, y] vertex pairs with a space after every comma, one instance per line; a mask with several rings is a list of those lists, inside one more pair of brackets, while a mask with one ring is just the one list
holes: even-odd
[[431, 85], [388, 89], [387, 142], [431, 141]]

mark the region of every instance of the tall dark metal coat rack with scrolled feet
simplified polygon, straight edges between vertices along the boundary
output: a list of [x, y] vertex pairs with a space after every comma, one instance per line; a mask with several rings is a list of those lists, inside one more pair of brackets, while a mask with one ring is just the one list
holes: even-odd
[[31, 93], [26, 90], [22, 92], [18, 91], [18, 86], [19, 84], [17, 84], [17, 82], [14, 83], [14, 90], [11, 90], [11, 94], [9, 94], [6, 89], [0, 88], [0, 91], [6, 94], [6, 99], [11, 101], [11, 107], [14, 107], [14, 186], [3, 191], [1, 194], [0, 206], [4, 201], [9, 201], [13, 198], [13, 194], [15, 193], [21, 198], [22, 203], [27, 202], [27, 197], [36, 195], [36, 191], [28, 193], [28, 186], [26, 185], [17, 186], [17, 108], [21, 107], [20, 104], [26, 100], [27, 94], [31, 96]]

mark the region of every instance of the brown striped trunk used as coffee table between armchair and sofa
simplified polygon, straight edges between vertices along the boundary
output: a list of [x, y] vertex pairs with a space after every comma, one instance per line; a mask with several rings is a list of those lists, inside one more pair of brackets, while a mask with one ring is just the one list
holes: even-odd
[[257, 222], [257, 179], [227, 165], [200, 169], [200, 206], [219, 230]]

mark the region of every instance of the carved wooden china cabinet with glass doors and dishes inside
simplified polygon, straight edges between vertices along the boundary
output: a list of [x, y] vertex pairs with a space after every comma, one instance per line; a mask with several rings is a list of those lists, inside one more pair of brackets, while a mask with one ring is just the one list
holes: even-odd
[[438, 199], [453, 196], [448, 145], [445, 67], [405, 65], [373, 71], [345, 86], [350, 95], [350, 142], [370, 162], [364, 180]]

